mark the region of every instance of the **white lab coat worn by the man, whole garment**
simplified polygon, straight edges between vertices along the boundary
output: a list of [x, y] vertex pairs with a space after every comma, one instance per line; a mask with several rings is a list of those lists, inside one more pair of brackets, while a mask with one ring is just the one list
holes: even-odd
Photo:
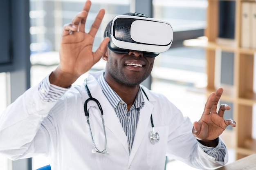
[[[190, 120], [163, 95], [145, 87], [149, 101], [144, 96], [129, 155], [126, 134], [97, 83], [101, 73], [89, 75], [87, 84], [103, 108], [108, 154], [92, 153], [94, 146], [84, 114], [88, 94], [83, 85], [73, 86], [58, 102], [43, 102], [38, 86], [26, 91], [0, 116], [0, 153], [13, 160], [43, 154], [49, 157], [52, 170], [164, 170], [166, 153], [198, 168], [227, 162], [227, 155], [225, 162], [207, 157], [192, 135]], [[101, 150], [105, 144], [101, 117], [94, 102], [87, 108], [92, 135]], [[154, 145], [149, 139], [151, 113], [160, 137]]]

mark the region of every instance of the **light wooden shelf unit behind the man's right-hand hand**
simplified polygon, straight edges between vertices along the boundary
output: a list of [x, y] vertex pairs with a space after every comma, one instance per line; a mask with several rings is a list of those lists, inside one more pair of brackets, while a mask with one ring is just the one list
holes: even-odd
[[[226, 0], [227, 1], [227, 0]], [[236, 4], [234, 39], [218, 37], [220, 0], [208, 0], [207, 28], [205, 36], [185, 40], [184, 46], [200, 47], [206, 51], [207, 89], [206, 95], [216, 91], [216, 51], [234, 53], [234, 84], [222, 86], [224, 93], [221, 100], [233, 103], [233, 118], [237, 123], [233, 130], [225, 130], [222, 138], [227, 146], [234, 148], [236, 159], [256, 153], [256, 139], [252, 137], [252, 110], [256, 104], [256, 93], [253, 91], [254, 55], [256, 49], [241, 47], [241, 16], [244, 0], [231, 0]], [[255, 0], [247, 0], [255, 2]], [[255, 2], [256, 3], [256, 2]], [[256, 122], [255, 122], [256, 124]]]

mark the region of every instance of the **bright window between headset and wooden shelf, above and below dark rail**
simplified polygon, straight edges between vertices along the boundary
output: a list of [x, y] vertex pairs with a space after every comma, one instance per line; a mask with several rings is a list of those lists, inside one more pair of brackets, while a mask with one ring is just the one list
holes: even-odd
[[[189, 31], [206, 26], [207, 6], [207, 0], [153, 0], [153, 14], [154, 18], [170, 22], [174, 32], [187, 31], [186, 34], [193, 37]], [[176, 35], [173, 43], [187, 37], [183, 33]], [[185, 47], [180, 43], [157, 56], [152, 71], [152, 90], [165, 94], [191, 121], [198, 120], [201, 112], [191, 113], [187, 109], [190, 106], [184, 107], [184, 104], [203, 110], [206, 101], [203, 93], [207, 85], [204, 54], [204, 49]]]

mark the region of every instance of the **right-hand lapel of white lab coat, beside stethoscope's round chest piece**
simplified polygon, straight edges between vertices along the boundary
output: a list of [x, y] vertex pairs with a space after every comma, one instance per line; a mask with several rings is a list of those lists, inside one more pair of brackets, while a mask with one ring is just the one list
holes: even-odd
[[149, 140], [149, 134], [148, 134], [148, 127], [151, 126], [150, 123], [150, 116], [153, 111], [153, 104], [151, 104], [148, 99], [144, 96], [144, 107], [139, 111], [139, 122], [137, 125], [136, 133], [135, 133], [135, 139], [133, 141], [132, 150], [130, 153], [130, 160], [129, 163], [131, 163], [132, 159], [135, 157], [136, 152], [139, 149], [139, 146], [141, 145], [142, 140], [146, 137]]

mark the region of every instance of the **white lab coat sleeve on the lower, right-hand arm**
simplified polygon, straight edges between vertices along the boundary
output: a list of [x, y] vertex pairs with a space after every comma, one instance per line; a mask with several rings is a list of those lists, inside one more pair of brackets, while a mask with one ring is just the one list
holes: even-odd
[[190, 119], [184, 117], [172, 103], [165, 106], [168, 106], [166, 109], [170, 110], [167, 155], [199, 169], [209, 169], [227, 163], [227, 153], [224, 161], [216, 161], [205, 153], [192, 134], [193, 124]]

